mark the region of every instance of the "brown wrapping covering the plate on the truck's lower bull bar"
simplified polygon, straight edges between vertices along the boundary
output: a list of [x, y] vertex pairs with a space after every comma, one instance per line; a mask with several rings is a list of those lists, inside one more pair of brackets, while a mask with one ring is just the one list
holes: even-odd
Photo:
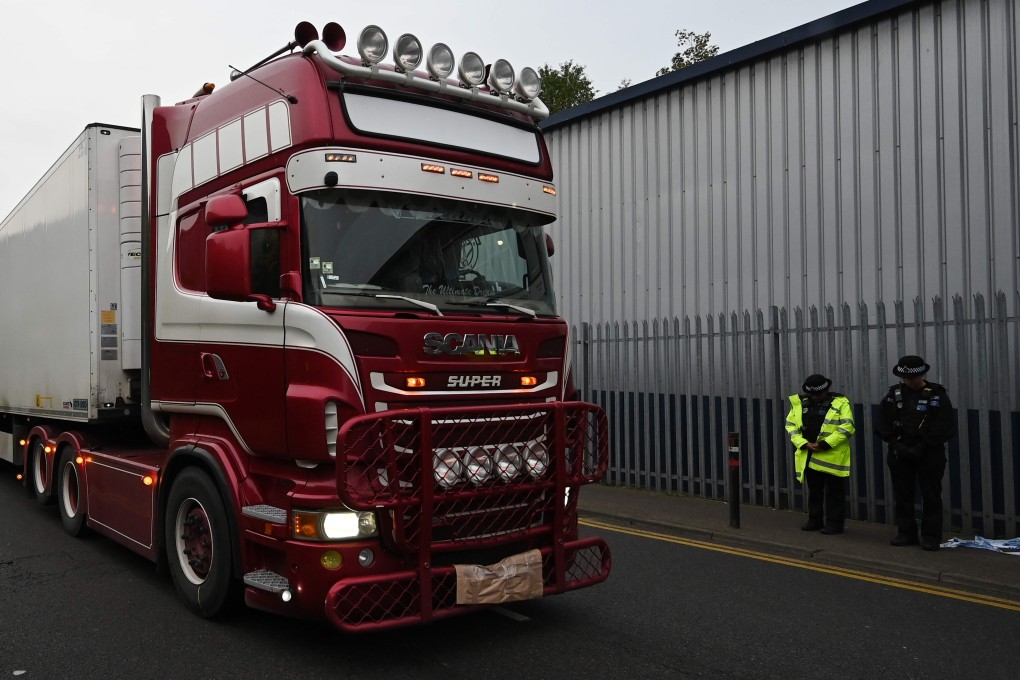
[[511, 555], [494, 565], [454, 565], [458, 605], [499, 605], [542, 596], [542, 553]]

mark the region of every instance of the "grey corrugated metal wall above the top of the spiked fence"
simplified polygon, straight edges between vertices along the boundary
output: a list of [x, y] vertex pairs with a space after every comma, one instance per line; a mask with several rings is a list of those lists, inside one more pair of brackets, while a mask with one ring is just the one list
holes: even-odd
[[550, 130], [564, 315], [1020, 289], [1016, 3], [913, 7]]

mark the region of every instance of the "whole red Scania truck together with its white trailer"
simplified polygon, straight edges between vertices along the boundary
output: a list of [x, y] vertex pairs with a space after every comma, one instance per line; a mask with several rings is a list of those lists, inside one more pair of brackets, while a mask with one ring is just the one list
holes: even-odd
[[599, 583], [538, 74], [345, 44], [302, 22], [88, 125], [0, 224], [0, 458], [203, 616], [363, 631]]

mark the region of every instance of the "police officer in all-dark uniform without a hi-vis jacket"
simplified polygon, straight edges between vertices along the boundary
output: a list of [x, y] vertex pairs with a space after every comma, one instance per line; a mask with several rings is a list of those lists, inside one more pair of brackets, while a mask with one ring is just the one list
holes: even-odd
[[956, 415], [946, 387], [924, 379], [931, 367], [909, 355], [892, 367], [900, 384], [879, 405], [875, 434], [889, 444], [888, 467], [896, 502], [892, 545], [917, 544], [914, 494], [921, 487], [921, 547], [937, 551], [942, 541], [942, 475], [946, 442], [956, 434]]

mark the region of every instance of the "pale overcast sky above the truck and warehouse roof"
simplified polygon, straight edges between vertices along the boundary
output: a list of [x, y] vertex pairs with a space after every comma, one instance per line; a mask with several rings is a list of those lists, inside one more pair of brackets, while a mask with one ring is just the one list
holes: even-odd
[[[356, 54], [368, 23], [503, 57], [519, 71], [572, 59], [600, 95], [655, 76], [674, 33], [710, 32], [722, 52], [813, 21], [855, 0], [3, 0], [0, 8], [0, 220], [91, 122], [138, 126], [141, 96], [164, 104], [228, 82], [293, 39], [304, 19], [337, 21]], [[391, 42], [392, 44], [392, 42]]]

